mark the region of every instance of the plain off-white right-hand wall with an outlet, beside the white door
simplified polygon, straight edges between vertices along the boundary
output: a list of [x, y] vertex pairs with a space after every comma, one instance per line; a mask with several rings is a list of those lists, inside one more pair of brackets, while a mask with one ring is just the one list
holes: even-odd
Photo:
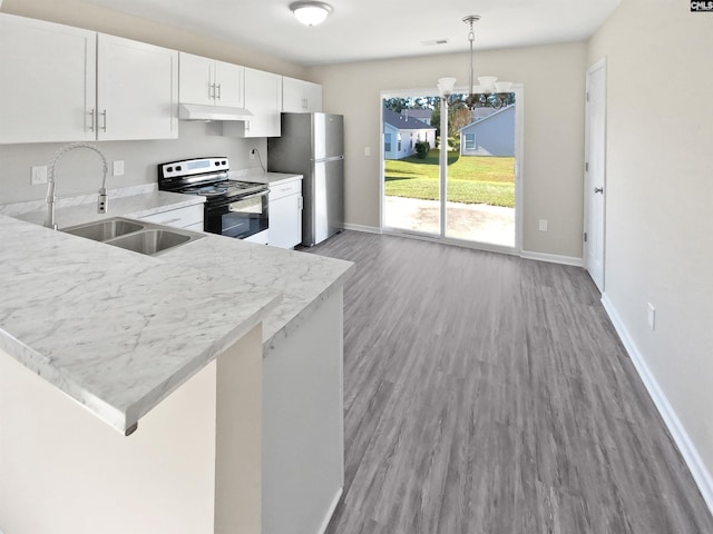
[[[607, 60], [605, 298], [713, 473], [713, 16], [624, 0]], [[656, 308], [655, 330], [646, 304]], [[711, 504], [713, 502], [709, 501]]]

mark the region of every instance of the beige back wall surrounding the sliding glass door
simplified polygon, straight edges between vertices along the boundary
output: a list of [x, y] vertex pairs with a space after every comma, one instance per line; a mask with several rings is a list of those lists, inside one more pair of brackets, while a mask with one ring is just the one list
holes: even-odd
[[[524, 248], [582, 257], [585, 42], [479, 52], [479, 73], [525, 87]], [[432, 88], [445, 76], [468, 85], [469, 56], [314, 67], [324, 86], [324, 109], [344, 115], [345, 216], [353, 225], [379, 227], [381, 91]], [[520, 102], [522, 103], [522, 102]], [[518, 103], [518, 105], [520, 105]], [[364, 156], [364, 147], [371, 156]], [[549, 220], [549, 231], [538, 228]]]

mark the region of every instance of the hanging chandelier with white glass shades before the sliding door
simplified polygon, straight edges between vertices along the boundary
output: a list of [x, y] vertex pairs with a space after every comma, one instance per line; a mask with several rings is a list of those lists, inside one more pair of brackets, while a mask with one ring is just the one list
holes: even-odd
[[[479, 20], [479, 14], [463, 17], [463, 22], [470, 26], [470, 31], [468, 32], [468, 41], [470, 42], [470, 78], [468, 97], [461, 101], [468, 106], [468, 109], [486, 107], [500, 109], [512, 101], [509, 92], [512, 86], [511, 81], [498, 81], [498, 78], [495, 76], [479, 76], [478, 85], [473, 85], [472, 46], [476, 40], [476, 32], [472, 24]], [[452, 95], [455, 85], [456, 78], [440, 78], [438, 80], [438, 91], [443, 100]]]

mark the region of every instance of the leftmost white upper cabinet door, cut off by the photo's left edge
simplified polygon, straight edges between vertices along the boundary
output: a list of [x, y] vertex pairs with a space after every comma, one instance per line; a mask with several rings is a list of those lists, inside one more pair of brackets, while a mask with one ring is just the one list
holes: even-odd
[[0, 13], [0, 142], [95, 138], [97, 33]]

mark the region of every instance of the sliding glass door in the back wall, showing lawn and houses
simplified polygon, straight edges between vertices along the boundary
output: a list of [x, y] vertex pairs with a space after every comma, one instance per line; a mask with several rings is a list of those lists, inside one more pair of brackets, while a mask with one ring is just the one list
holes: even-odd
[[515, 93], [498, 109], [463, 99], [384, 96], [382, 227], [516, 248]]

